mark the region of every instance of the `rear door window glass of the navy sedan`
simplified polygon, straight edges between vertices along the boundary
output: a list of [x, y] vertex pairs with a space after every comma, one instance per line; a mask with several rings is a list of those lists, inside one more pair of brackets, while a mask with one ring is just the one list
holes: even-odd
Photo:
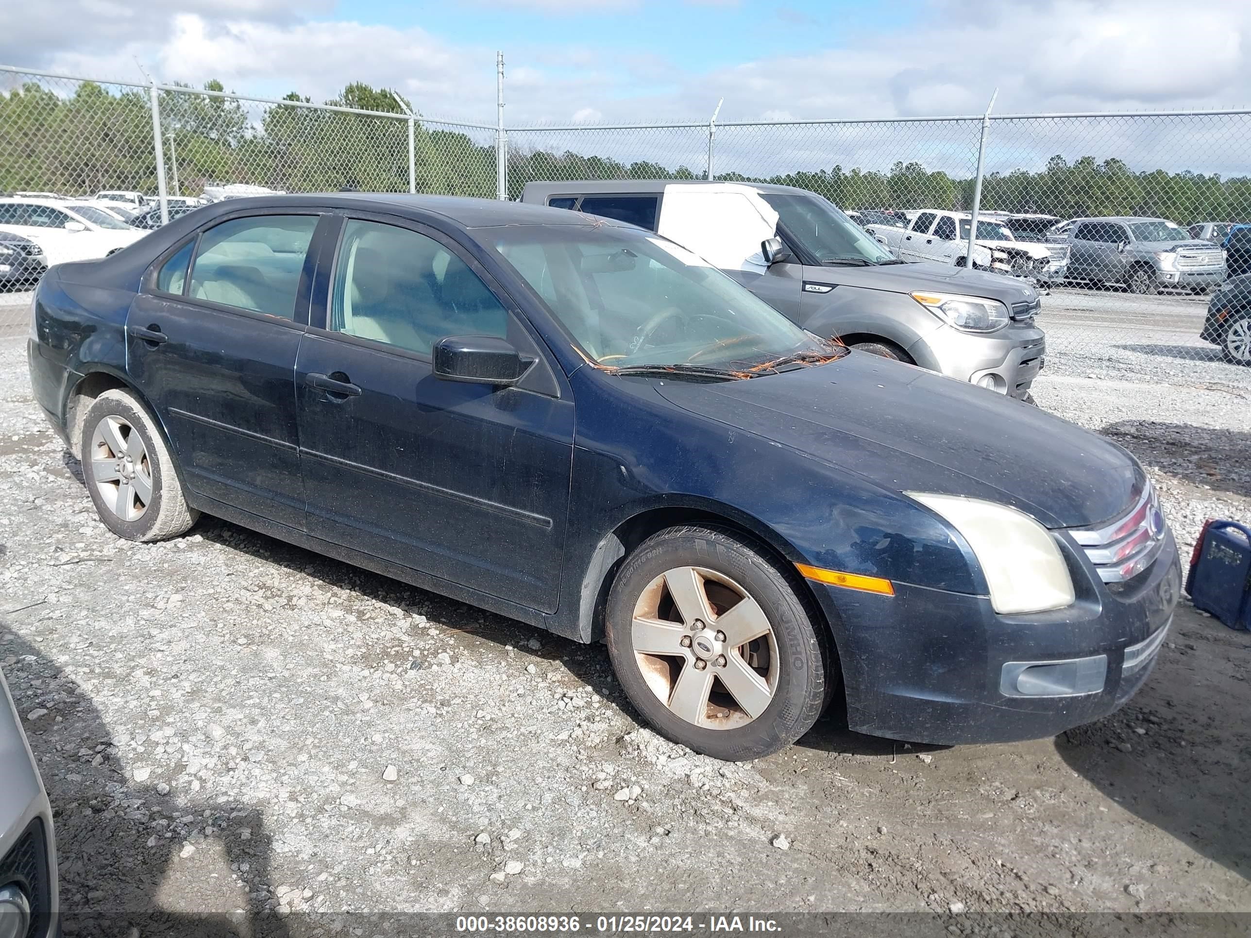
[[317, 223], [317, 215], [258, 215], [210, 228], [200, 236], [190, 295], [294, 319], [304, 255]]

